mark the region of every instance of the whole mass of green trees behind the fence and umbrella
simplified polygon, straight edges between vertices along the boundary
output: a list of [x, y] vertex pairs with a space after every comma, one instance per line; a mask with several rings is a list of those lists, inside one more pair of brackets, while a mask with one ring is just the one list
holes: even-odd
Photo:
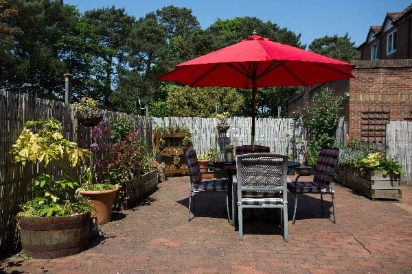
[[[216, 106], [229, 110], [233, 105], [233, 114], [247, 116], [251, 90], [194, 92], [157, 77], [176, 64], [239, 42], [253, 31], [306, 47], [300, 34], [256, 17], [218, 18], [202, 29], [192, 10], [173, 5], [135, 18], [115, 6], [81, 14], [58, 0], [0, 0], [0, 86], [32, 88], [43, 97], [62, 99], [63, 75], [71, 73], [73, 101], [92, 97], [111, 110], [128, 113], [140, 113], [138, 108], [147, 104], [154, 115], [210, 116]], [[342, 60], [354, 55], [347, 35], [319, 38], [310, 49]], [[277, 116], [278, 106], [287, 110], [288, 99], [297, 92], [299, 88], [260, 89], [258, 116]]]

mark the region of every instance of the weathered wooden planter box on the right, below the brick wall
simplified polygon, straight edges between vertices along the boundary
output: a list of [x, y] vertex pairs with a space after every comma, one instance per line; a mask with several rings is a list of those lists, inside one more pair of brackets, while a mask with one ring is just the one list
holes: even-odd
[[365, 195], [369, 199], [402, 198], [399, 176], [393, 174], [383, 176], [382, 172], [374, 171], [362, 175], [357, 169], [350, 166], [345, 166], [343, 170], [339, 167], [339, 173], [342, 174], [342, 172], [345, 174], [343, 181], [341, 181], [342, 185]]

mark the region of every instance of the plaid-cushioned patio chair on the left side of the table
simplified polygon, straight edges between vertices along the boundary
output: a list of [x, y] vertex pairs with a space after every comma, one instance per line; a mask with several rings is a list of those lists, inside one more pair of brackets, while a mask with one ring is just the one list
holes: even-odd
[[[187, 162], [187, 167], [189, 169], [190, 175], [190, 196], [189, 196], [189, 216], [187, 221], [190, 221], [190, 209], [192, 204], [192, 196], [193, 196], [193, 209], [196, 203], [196, 193], [198, 192], [226, 192], [227, 193], [227, 177], [226, 179], [211, 179], [202, 181], [202, 173], [209, 173], [209, 172], [201, 172], [201, 167], [198, 163], [198, 158], [196, 155], [196, 151], [194, 149], [185, 149], [183, 151], [183, 155], [185, 155], [185, 159]], [[219, 171], [214, 171], [215, 173], [219, 173]], [[222, 173], [225, 177], [226, 175]], [[228, 198], [226, 195], [226, 208], [227, 208], [227, 216], [230, 220], [229, 215], [229, 203]]]

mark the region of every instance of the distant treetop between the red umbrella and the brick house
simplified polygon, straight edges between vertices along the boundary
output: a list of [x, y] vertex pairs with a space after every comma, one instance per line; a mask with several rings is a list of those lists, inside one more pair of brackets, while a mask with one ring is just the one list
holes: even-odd
[[309, 45], [309, 50], [346, 62], [358, 60], [361, 57], [359, 51], [356, 50], [355, 42], [350, 40], [348, 33], [344, 36], [335, 34], [314, 39]]

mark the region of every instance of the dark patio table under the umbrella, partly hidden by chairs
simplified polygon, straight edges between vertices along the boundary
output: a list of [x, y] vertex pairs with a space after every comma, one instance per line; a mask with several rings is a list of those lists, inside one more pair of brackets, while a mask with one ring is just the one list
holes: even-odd
[[[236, 210], [237, 210], [237, 199], [236, 188], [233, 188], [233, 176], [236, 175], [236, 161], [232, 162], [208, 162], [207, 165], [211, 169], [222, 169], [227, 173], [227, 197], [229, 203], [229, 223], [233, 226], [236, 225]], [[299, 162], [288, 161], [288, 170], [295, 169], [300, 166]]]

